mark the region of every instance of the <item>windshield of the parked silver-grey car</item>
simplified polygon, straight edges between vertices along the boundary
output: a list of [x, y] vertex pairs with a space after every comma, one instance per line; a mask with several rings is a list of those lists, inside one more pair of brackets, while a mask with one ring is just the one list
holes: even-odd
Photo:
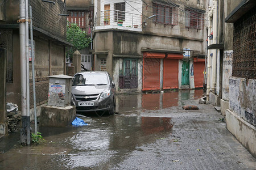
[[72, 86], [103, 86], [108, 84], [106, 74], [77, 74], [73, 79]]

